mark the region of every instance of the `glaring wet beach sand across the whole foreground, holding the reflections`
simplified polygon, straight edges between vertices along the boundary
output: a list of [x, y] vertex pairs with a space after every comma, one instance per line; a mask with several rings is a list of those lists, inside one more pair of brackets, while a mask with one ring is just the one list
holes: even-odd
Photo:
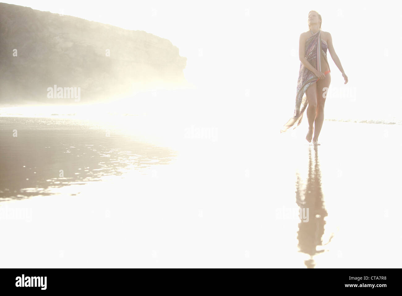
[[[26, 122], [23, 145], [2, 134], [2, 267], [400, 267], [401, 126], [325, 121], [315, 147], [303, 124], [156, 116], [114, 138], [78, 125], [27, 140]], [[59, 168], [74, 179], [54, 184]]]

